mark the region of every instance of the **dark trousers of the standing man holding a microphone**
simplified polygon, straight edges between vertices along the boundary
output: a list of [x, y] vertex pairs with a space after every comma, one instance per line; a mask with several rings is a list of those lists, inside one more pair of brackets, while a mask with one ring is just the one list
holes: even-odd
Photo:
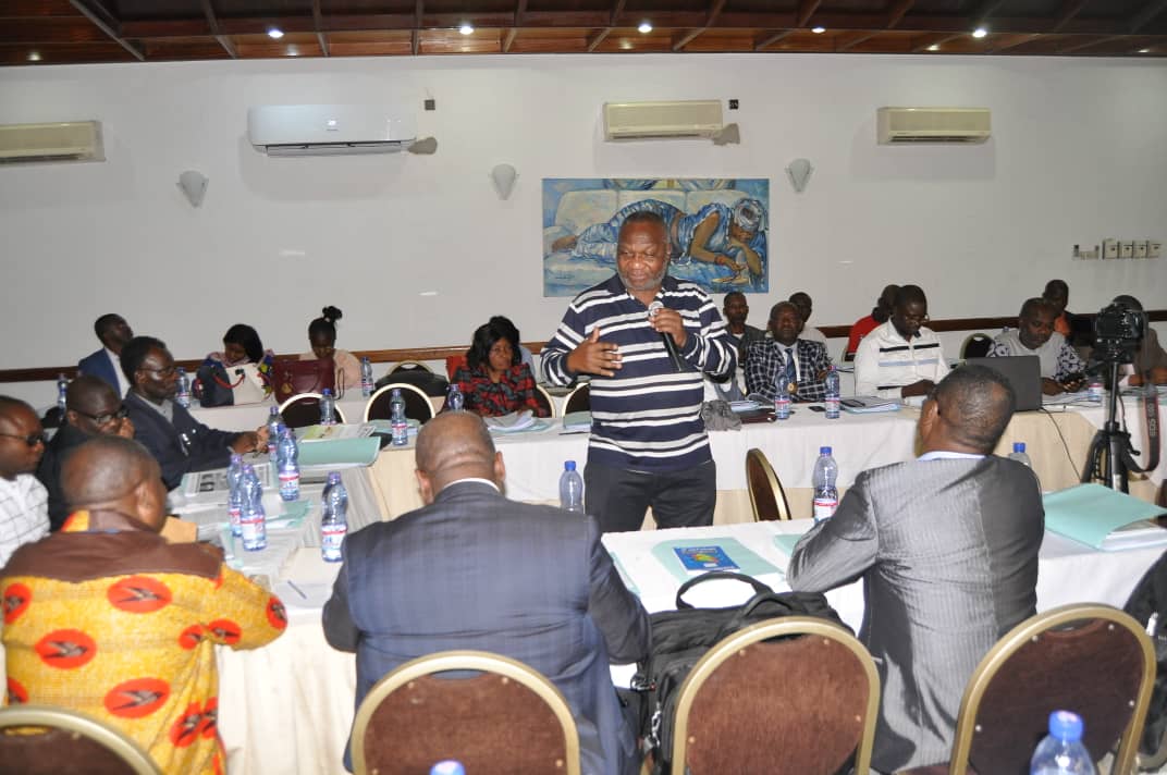
[[640, 530], [649, 507], [658, 528], [712, 525], [717, 480], [718, 467], [712, 460], [666, 473], [589, 462], [584, 469], [584, 505], [603, 532]]

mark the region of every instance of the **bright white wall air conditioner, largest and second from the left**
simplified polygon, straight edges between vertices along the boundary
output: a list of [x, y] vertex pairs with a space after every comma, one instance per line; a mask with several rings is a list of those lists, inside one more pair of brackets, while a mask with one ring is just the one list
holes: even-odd
[[261, 105], [247, 138], [268, 156], [393, 153], [418, 137], [413, 112], [393, 105]]

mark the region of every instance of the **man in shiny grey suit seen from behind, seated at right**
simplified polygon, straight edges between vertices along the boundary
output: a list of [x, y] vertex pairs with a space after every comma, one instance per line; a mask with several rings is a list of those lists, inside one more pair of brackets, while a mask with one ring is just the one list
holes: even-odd
[[1027, 467], [992, 454], [1013, 406], [991, 369], [952, 371], [921, 411], [924, 454], [860, 474], [790, 560], [794, 589], [864, 580], [859, 640], [882, 684], [881, 771], [948, 761], [965, 683], [1036, 610], [1041, 490]]

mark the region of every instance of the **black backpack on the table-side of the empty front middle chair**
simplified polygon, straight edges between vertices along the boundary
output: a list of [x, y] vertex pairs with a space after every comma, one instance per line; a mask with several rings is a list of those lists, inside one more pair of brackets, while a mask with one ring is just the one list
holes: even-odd
[[[732, 608], [693, 608], [683, 600], [699, 584], [736, 579], [754, 587], [754, 596]], [[757, 579], [727, 571], [711, 571], [690, 579], [677, 589], [677, 610], [650, 616], [652, 637], [649, 656], [637, 664], [633, 690], [638, 694], [641, 738], [652, 753], [654, 773], [670, 771], [677, 694], [685, 677], [705, 652], [738, 630], [780, 616], [818, 616], [847, 628], [817, 592], [774, 592]], [[627, 694], [626, 694], [627, 697]]]

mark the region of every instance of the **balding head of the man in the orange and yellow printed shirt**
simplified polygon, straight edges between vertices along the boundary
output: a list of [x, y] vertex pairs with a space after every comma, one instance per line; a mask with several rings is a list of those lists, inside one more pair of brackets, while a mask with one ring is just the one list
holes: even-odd
[[[70, 509], [113, 509], [160, 528], [166, 505], [161, 480], [162, 472], [146, 447], [121, 437], [93, 437], [65, 456], [61, 494]], [[144, 494], [151, 496], [145, 505], [139, 503]]]

